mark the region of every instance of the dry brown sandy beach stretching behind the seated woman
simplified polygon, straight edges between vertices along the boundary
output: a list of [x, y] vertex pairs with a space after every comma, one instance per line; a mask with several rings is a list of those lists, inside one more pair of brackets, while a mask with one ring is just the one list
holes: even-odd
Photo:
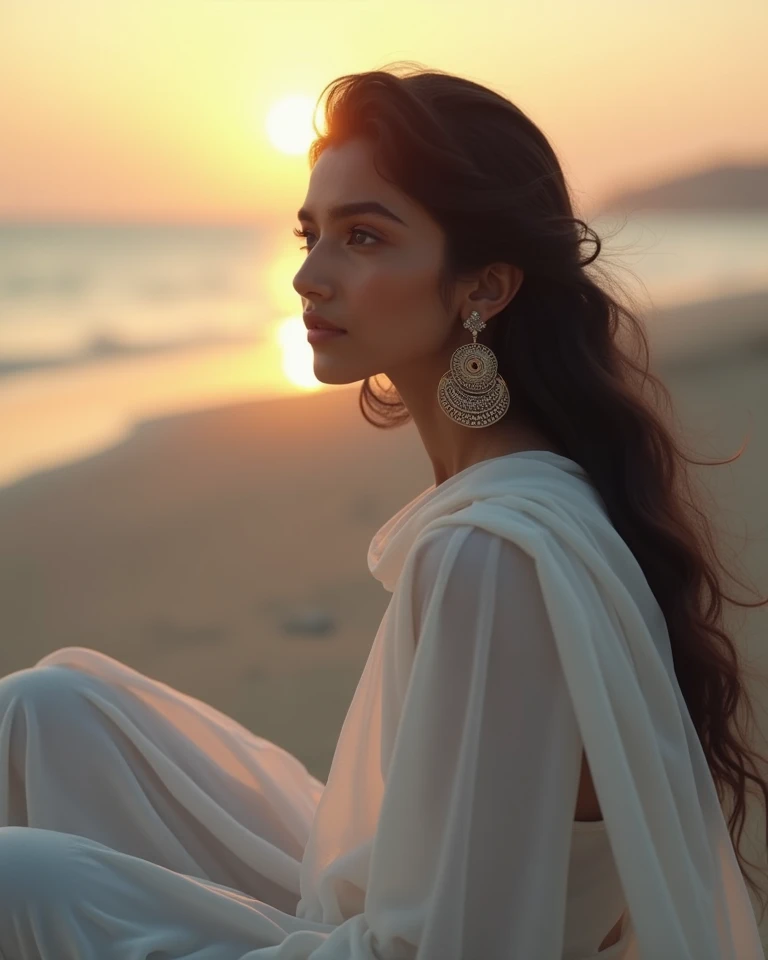
[[[696, 473], [724, 562], [768, 592], [768, 295], [749, 303], [755, 324], [738, 342], [671, 352], [655, 369], [694, 455], [747, 444], [737, 462]], [[94, 647], [325, 779], [389, 598], [368, 544], [434, 479], [415, 427], [376, 430], [357, 395], [355, 385], [145, 421], [109, 450], [0, 491], [0, 675], [60, 646]], [[768, 614], [732, 616], [768, 676]], [[768, 686], [759, 695], [768, 730]]]

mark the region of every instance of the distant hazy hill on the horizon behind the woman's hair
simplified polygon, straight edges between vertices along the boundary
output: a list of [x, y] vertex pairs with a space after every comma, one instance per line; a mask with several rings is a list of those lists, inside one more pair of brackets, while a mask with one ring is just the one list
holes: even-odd
[[721, 165], [621, 190], [601, 204], [600, 213], [627, 210], [768, 211], [768, 163]]

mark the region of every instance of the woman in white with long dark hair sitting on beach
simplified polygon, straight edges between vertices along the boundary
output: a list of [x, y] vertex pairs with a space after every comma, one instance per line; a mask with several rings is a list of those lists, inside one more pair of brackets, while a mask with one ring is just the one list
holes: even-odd
[[621, 343], [642, 327], [585, 272], [599, 239], [475, 83], [342, 77], [326, 121], [294, 286], [342, 332], [315, 373], [412, 417], [435, 473], [371, 542], [392, 597], [328, 783], [56, 651], [0, 682], [0, 953], [758, 960], [719, 796], [731, 826], [745, 779], [768, 792], [725, 594]]

